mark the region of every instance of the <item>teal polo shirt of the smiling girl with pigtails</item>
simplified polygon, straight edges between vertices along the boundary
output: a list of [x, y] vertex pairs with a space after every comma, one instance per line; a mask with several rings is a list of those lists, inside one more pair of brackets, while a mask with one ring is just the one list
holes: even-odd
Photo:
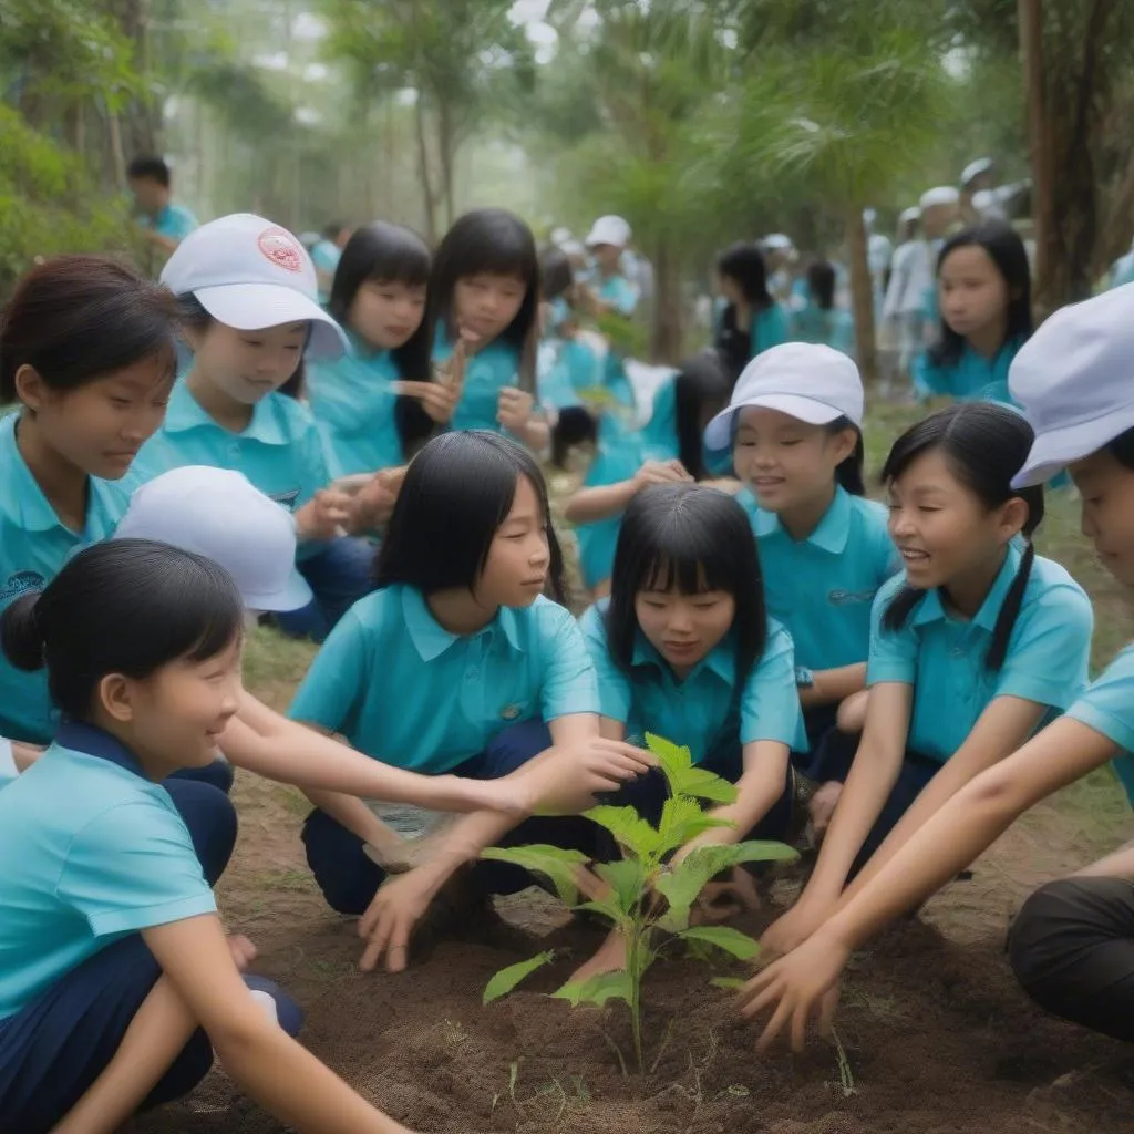
[[1019, 560], [1019, 549], [1010, 547], [984, 602], [968, 621], [946, 611], [940, 593], [930, 591], [902, 629], [887, 631], [882, 613], [904, 576], [890, 579], [878, 592], [866, 680], [871, 686], [898, 682], [914, 687], [907, 735], [912, 751], [943, 763], [996, 697], [1021, 697], [1063, 712], [1086, 688], [1094, 625], [1091, 602], [1059, 564], [1041, 556], [1032, 564], [1004, 666], [996, 672], [984, 667]]

